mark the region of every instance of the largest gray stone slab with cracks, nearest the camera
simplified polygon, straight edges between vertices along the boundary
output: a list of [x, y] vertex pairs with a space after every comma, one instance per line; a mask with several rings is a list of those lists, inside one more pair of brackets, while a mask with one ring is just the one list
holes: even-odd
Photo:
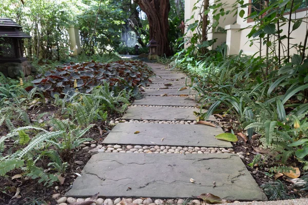
[[107, 198], [191, 198], [211, 193], [227, 200], [267, 200], [235, 154], [98, 153], [81, 175], [66, 196], [100, 192]]

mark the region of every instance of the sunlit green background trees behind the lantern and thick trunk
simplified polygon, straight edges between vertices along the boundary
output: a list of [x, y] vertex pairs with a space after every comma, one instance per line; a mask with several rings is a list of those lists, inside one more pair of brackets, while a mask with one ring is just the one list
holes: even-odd
[[[172, 0], [170, 5], [168, 44], [174, 53], [179, 45], [177, 39], [182, 36], [179, 25], [184, 20], [184, 0]], [[149, 41], [147, 17], [131, 0], [27, 0], [24, 4], [20, 0], [3, 0], [0, 17], [12, 18], [30, 33], [25, 53], [31, 58], [67, 58], [70, 26], [80, 29], [82, 51], [87, 54], [133, 54], [134, 49], [129, 47], [136, 44], [146, 52]]]

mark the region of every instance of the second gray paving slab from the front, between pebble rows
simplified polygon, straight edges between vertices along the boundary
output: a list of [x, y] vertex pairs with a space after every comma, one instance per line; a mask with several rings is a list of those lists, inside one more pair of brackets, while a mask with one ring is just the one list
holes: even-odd
[[[140, 133], [134, 134], [136, 131]], [[221, 127], [213, 128], [205, 125], [119, 123], [110, 131], [103, 143], [151, 145], [151, 142], [155, 142], [153, 145], [232, 148], [230, 142], [215, 138], [221, 133], [224, 133]]]

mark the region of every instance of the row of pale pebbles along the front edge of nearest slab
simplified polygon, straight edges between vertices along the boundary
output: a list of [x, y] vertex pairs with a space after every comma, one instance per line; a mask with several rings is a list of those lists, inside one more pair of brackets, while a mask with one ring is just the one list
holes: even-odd
[[[73, 197], [65, 197], [61, 194], [53, 194], [52, 198], [56, 200], [58, 205], [67, 205], [74, 202], [81, 202], [81, 201], [88, 201], [89, 198], [73, 198]], [[191, 199], [152, 199], [152, 198], [126, 198], [127, 201], [134, 203], [134, 204], [140, 204], [140, 205], [201, 205], [201, 201], [198, 199], [191, 200]], [[110, 199], [110, 198], [98, 198], [95, 203], [92, 203], [90, 205], [120, 205], [121, 198], [116, 199]]]

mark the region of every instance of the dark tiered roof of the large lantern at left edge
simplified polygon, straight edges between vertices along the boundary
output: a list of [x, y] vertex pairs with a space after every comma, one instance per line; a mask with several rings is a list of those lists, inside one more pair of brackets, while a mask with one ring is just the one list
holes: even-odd
[[14, 22], [10, 18], [0, 18], [0, 37], [15, 37], [15, 38], [31, 38], [27, 33], [24, 33], [22, 26]]

